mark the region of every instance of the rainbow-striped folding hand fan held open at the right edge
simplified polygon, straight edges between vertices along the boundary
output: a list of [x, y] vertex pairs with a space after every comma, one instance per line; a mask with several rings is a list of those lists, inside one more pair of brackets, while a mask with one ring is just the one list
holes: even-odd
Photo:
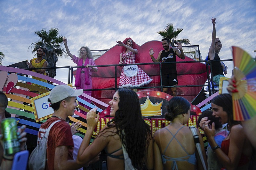
[[256, 115], [256, 63], [243, 49], [232, 49], [238, 90], [232, 93], [234, 120], [245, 121]]

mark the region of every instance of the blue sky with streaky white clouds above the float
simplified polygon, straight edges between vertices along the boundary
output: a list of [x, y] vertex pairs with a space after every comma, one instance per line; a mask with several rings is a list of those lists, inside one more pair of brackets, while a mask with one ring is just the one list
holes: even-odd
[[[221, 59], [232, 59], [231, 46], [255, 57], [255, 0], [0, 0], [0, 10], [0, 52], [5, 54], [5, 66], [30, 60], [34, 54], [28, 46], [38, 40], [34, 32], [52, 27], [68, 38], [69, 49], [76, 55], [82, 45], [91, 50], [109, 49], [127, 37], [139, 45], [161, 40], [156, 32], [172, 23], [183, 28], [178, 39], [199, 45], [204, 58], [211, 44], [211, 17], [216, 18], [217, 37], [223, 46]], [[232, 62], [226, 65], [233, 67]], [[57, 66], [76, 64], [61, 58]], [[57, 71], [56, 78], [67, 83], [63, 72]]]

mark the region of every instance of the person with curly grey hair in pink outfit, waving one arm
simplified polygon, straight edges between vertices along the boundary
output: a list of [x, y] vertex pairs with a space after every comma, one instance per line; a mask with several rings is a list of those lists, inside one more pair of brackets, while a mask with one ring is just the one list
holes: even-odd
[[[97, 72], [97, 67], [89, 67], [88, 66], [94, 66], [96, 65], [92, 58], [92, 53], [88, 47], [82, 46], [79, 49], [79, 57], [76, 57], [76, 55], [73, 55], [70, 53], [68, 49], [68, 39], [64, 38], [63, 43], [65, 45], [66, 51], [68, 53], [68, 56], [71, 57], [71, 60], [73, 60], [74, 63], [77, 64], [77, 66], [85, 66], [85, 68], [77, 68], [76, 70], [76, 81], [75, 86], [76, 89], [92, 89], [92, 71]], [[89, 96], [92, 96], [92, 91], [84, 91], [85, 94], [88, 94]], [[79, 98], [91, 103], [90, 99], [87, 99], [83, 96], [79, 96]], [[79, 105], [86, 107], [87, 109], [91, 109], [90, 107], [84, 105], [83, 103], [79, 102]], [[86, 115], [86, 112], [83, 110], [80, 110], [80, 113]]]

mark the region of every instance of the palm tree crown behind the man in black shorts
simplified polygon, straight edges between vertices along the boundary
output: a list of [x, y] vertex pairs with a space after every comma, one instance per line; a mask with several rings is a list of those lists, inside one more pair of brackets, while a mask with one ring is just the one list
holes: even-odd
[[178, 34], [183, 30], [183, 28], [177, 28], [175, 31], [174, 29], [173, 24], [169, 23], [164, 27], [164, 30], [158, 31], [157, 33], [159, 33], [163, 38], [168, 38], [171, 41], [172, 47], [174, 44], [177, 44], [177, 42], [185, 45], [190, 44], [188, 39], [176, 40]]

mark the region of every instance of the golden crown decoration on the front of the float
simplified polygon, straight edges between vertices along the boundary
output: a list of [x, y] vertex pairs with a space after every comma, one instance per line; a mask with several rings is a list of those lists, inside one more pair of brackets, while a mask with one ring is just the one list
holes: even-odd
[[149, 97], [147, 96], [147, 99], [145, 103], [140, 104], [140, 109], [141, 109], [141, 114], [142, 116], [161, 116], [162, 115], [162, 107], [163, 101], [158, 103], [158, 101], [153, 104], [150, 100]]

